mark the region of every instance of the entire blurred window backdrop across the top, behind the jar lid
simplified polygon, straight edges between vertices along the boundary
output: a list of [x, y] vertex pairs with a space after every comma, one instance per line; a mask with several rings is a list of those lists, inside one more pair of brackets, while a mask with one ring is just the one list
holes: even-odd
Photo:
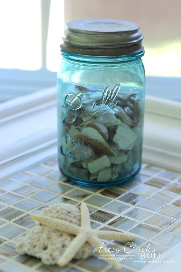
[[46, 67], [57, 71], [66, 22], [83, 18], [115, 18], [140, 25], [144, 34], [146, 75], [180, 77], [180, 9], [179, 0], [1, 1], [0, 67], [22, 70]]

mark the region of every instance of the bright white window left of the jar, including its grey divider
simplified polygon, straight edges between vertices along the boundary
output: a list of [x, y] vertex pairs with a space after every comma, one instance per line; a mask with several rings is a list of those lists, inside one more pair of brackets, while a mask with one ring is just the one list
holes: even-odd
[[57, 71], [64, 1], [6, 0], [0, 5], [0, 68]]

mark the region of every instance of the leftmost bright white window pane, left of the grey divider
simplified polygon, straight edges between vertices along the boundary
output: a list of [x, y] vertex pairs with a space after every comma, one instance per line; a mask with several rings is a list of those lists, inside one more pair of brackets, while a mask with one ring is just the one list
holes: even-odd
[[0, 67], [41, 68], [40, 0], [0, 1]]

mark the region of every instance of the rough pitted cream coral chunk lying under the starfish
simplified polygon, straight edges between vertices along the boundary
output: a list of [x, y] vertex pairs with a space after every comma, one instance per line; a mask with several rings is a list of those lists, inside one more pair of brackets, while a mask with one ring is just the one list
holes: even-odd
[[[81, 214], [76, 206], [71, 204], [55, 204], [48, 209], [44, 208], [41, 215], [64, 219], [75, 225], [80, 225]], [[30, 232], [18, 239], [16, 250], [20, 254], [28, 254], [41, 258], [44, 264], [56, 264], [65, 249], [75, 238], [71, 235], [48, 226], [37, 223]], [[76, 259], [85, 258], [91, 251], [89, 243], [84, 243]]]

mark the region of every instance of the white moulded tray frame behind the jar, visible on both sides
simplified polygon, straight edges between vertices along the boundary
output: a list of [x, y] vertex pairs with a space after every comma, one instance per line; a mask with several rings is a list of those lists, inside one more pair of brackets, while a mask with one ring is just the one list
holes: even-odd
[[[181, 103], [146, 96], [143, 161], [181, 172]], [[56, 154], [56, 86], [0, 105], [1, 177]]]

